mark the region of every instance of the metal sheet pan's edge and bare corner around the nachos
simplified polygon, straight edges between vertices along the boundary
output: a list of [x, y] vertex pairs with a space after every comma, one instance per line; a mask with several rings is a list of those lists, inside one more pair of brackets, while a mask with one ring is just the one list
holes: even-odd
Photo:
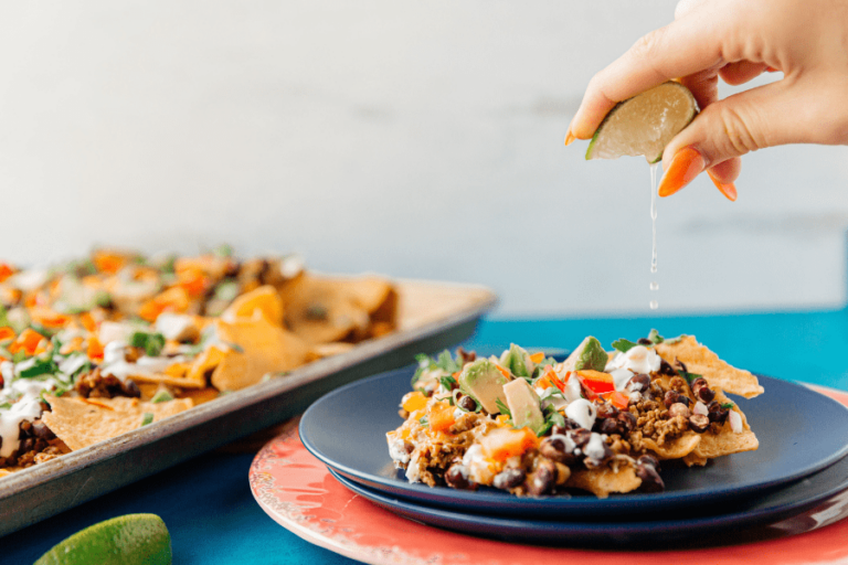
[[328, 391], [469, 337], [497, 299], [487, 288], [398, 281], [399, 330], [119, 437], [0, 479], [0, 536], [306, 409]]

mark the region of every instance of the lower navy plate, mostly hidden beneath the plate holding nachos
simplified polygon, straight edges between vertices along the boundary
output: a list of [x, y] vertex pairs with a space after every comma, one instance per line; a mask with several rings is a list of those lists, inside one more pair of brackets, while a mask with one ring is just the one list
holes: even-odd
[[[657, 544], [669, 545], [695, 542], [698, 545], [733, 543], [734, 537], [750, 540], [765, 539], [777, 534], [798, 534], [822, 525], [819, 512], [829, 518], [833, 509], [840, 503], [839, 494], [848, 489], [848, 458], [795, 482], [776, 492], [752, 500], [735, 512], [687, 520], [656, 520], [635, 522], [558, 522], [530, 519], [495, 518], [465, 514], [439, 508], [415, 504], [394, 499], [382, 492], [341, 477], [332, 469], [332, 476], [344, 487], [398, 515], [446, 530], [453, 530], [486, 537], [515, 542], [569, 544], [582, 546], [611, 546], [634, 550], [657, 548]], [[841, 504], [845, 505], [844, 503]], [[808, 512], [808, 520], [793, 520], [781, 524], [780, 532], [760, 532], [752, 535], [751, 527], [773, 524]], [[846, 510], [841, 511], [845, 515]], [[665, 518], [665, 516], [664, 516]]]

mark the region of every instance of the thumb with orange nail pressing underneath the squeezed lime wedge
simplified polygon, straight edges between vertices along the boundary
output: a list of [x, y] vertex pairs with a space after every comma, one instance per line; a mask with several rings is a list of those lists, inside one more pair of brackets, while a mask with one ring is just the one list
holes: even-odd
[[816, 117], [819, 103], [810, 104], [815, 97], [797, 86], [781, 81], [710, 104], [666, 146], [659, 195], [669, 196], [702, 171], [750, 151], [827, 142], [814, 139], [822, 132], [823, 122]]

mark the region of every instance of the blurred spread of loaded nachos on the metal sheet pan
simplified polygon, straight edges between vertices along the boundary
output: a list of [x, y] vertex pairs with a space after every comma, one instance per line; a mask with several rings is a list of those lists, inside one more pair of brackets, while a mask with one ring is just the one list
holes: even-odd
[[0, 477], [391, 332], [396, 307], [379, 277], [226, 247], [0, 264]]

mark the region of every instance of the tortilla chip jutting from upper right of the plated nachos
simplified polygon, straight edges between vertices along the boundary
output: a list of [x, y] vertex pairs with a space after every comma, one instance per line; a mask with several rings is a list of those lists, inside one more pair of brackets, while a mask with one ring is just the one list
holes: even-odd
[[659, 356], [669, 363], [680, 360], [690, 373], [703, 376], [710, 387], [718, 387], [731, 394], [753, 398], [763, 393], [763, 387], [749, 371], [735, 369], [698, 343], [692, 335], [681, 335], [678, 341], [665, 341], [656, 345]]

